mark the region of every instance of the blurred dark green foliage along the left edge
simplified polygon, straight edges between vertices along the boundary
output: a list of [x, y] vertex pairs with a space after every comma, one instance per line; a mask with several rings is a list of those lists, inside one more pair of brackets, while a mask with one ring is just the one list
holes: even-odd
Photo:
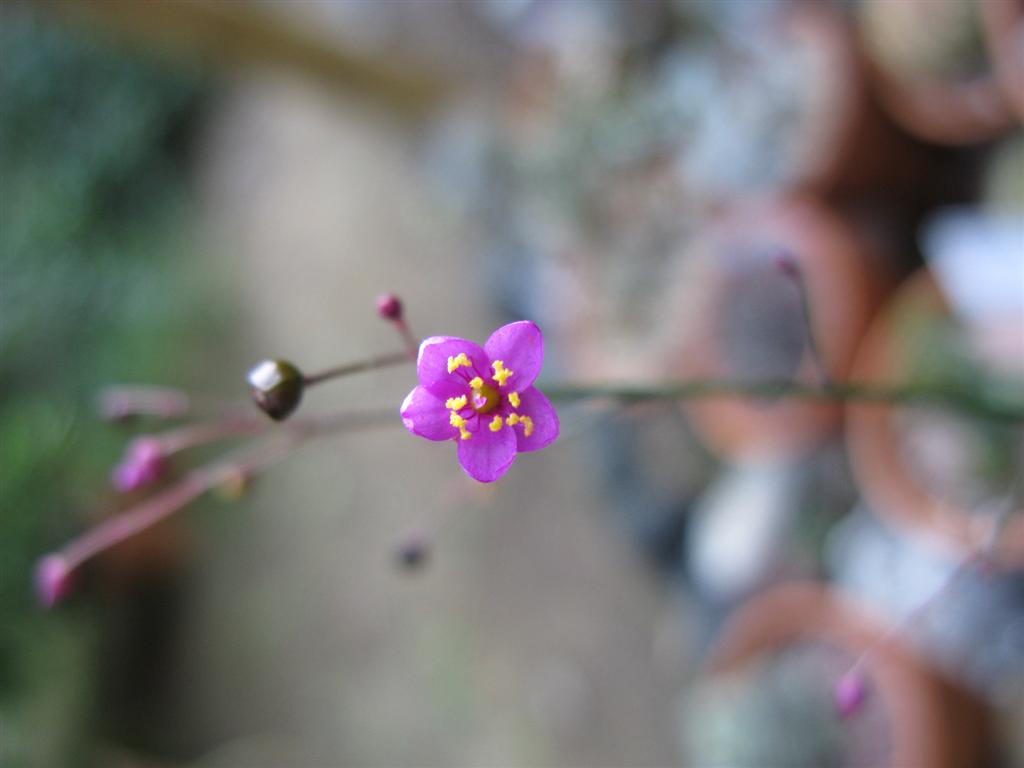
[[180, 382], [198, 292], [188, 136], [206, 86], [0, 7], [0, 763], [87, 762], [95, 613], [42, 612], [37, 557], [81, 530], [123, 437], [112, 381]]

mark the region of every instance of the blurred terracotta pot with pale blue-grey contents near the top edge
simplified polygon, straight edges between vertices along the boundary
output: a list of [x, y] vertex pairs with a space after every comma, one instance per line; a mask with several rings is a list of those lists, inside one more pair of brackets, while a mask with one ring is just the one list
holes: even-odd
[[911, 153], [892, 152], [896, 132], [872, 109], [843, 14], [792, 3], [763, 15], [756, 38], [694, 54], [715, 95], [700, 106], [689, 91], [682, 100], [691, 113], [679, 136], [684, 186], [721, 203], [752, 190], [864, 188], [904, 167]]

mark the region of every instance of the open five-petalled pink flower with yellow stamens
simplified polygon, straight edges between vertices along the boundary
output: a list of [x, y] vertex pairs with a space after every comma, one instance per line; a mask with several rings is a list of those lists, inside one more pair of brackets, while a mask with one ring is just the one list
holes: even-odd
[[483, 348], [431, 336], [420, 344], [420, 386], [401, 403], [401, 421], [428, 440], [455, 440], [466, 473], [494, 482], [516, 454], [558, 437], [558, 415], [534, 386], [543, 365], [544, 334], [527, 321], [499, 328]]

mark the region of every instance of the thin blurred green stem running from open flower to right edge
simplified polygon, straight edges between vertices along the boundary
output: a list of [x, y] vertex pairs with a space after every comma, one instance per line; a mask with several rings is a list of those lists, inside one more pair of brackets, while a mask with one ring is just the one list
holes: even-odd
[[1024, 400], [1005, 399], [977, 391], [929, 384], [856, 384], [829, 382], [808, 384], [792, 380], [729, 381], [692, 379], [659, 384], [544, 384], [541, 387], [553, 400], [580, 400], [608, 397], [629, 402], [643, 400], [683, 400], [713, 397], [748, 399], [797, 399], [815, 402], [873, 402], [888, 406], [940, 406], [973, 416], [1024, 422]]

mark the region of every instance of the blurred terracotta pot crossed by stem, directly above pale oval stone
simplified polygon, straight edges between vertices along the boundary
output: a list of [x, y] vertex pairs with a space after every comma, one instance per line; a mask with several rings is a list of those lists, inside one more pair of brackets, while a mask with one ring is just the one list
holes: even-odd
[[[800, 263], [818, 346], [829, 374], [844, 378], [877, 301], [878, 281], [869, 274], [868, 256], [853, 229], [807, 199], [744, 204], [705, 232], [691, 254], [691, 273], [684, 275], [676, 299], [685, 312], [676, 327], [686, 329], [686, 339], [674, 375], [814, 380], [799, 293], [774, 261], [779, 252]], [[746, 330], [764, 331], [769, 355], [776, 337], [787, 335], [777, 356], [788, 356], [793, 365], [776, 367], [774, 360], [767, 360], [760, 374], [737, 373], [737, 366], [729, 361], [734, 342], [726, 329], [732, 318], [769, 300], [778, 306], [766, 311], [763, 321], [755, 316]], [[772, 312], [779, 315], [777, 322], [770, 316]], [[752, 353], [756, 356], [758, 349]], [[690, 400], [683, 408], [710, 445], [730, 457], [799, 453], [836, 426], [841, 414], [830, 403], [724, 396]]]

